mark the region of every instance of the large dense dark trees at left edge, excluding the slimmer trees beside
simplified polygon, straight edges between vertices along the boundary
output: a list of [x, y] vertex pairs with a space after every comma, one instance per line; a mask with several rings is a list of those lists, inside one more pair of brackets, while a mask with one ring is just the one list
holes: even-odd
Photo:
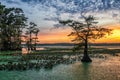
[[20, 8], [6, 8], [0, 3], [1, 50], [20, 50], [21, 34], [27, 18]]

